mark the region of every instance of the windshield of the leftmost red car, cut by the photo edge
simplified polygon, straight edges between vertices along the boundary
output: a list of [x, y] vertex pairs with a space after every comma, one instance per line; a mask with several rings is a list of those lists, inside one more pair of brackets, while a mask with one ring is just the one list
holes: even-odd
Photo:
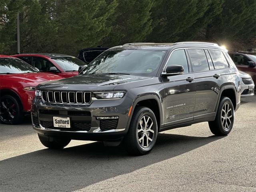
[[38, 70], [18, 58], [0, 58], [0, 74], [34, 72]]

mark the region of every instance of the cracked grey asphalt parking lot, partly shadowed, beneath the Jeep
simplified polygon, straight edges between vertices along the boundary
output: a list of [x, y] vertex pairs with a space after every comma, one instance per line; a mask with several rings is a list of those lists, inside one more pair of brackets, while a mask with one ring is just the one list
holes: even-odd
[[146, 156], [71, 141], [46, 149], [30, 126], [0, 124], [0, 191], [256, 191], [256, 96], [242, 98], [228, 136], [207, 123], [165, 131]]

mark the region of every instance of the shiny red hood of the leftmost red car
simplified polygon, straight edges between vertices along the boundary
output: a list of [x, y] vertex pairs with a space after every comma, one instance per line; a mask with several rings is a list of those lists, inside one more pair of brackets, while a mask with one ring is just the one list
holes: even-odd
[[62, 77], [48, 73], [21, 73], [21, 74], [9, 74], [6, 78], [10, 80], [16, 80], [18, 82], [39, 84], [42, 82], [48, 82], [51, 80], [61, 79]]

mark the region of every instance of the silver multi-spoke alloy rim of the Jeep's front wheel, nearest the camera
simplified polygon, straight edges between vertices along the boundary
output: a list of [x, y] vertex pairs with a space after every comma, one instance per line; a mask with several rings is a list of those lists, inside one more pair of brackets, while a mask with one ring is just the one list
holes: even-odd
[[154, 130], [152, 130], [154, 122], [150, 116], [143, 116], [137, 127], [137, 138], [140, 146], [143, 148], [148, 147], [154, 138]]

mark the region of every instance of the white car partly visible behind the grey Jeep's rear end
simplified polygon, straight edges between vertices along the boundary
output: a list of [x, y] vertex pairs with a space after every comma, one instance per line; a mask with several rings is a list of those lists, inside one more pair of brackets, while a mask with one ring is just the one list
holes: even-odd
[[239, 73], [242, 78], [241, 97], [254, 95], [254, 83], [252, 81], [252, 77], [242, 71], [239, 71]]

